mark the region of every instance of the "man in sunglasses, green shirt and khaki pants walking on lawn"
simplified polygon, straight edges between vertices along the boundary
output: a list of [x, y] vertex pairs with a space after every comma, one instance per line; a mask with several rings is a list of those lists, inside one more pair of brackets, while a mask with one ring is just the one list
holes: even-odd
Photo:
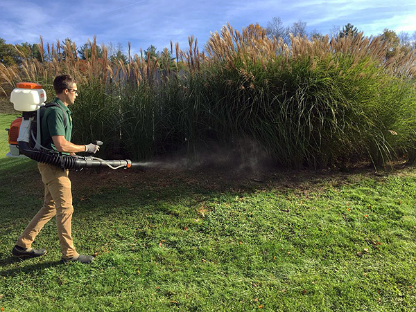
[[[41, 128], [42, 146], [63, 154], [72, 155], [76, 152], [97, 152], [98, 145], [92, 143], [89, 145], [75, 145], [71, 143], [72, 118], [68, 106], [73, 104], [78, 96], [75, 80], [69, 75], [60, 75], [53, 81], [53, 88], [56, 92], [56, 98], [53, 102], [59, 104], [60, 107], [48, 107], [45, 110]], [[62, 261], [91, 263], [94, 257], [78, 254], [73, 246], [71, 235], [73, 206], [68, 169], [60, 169], [60, 167], [44, 163], [37, 163], [37, 167], [44, 183], [44, 205], [17, 239], [12, 255], [19, 258], [33, 258], [46, 254], [45, 249], [33, 249], [31, 245], [43, 226], [53, 217], [56, 217]]]

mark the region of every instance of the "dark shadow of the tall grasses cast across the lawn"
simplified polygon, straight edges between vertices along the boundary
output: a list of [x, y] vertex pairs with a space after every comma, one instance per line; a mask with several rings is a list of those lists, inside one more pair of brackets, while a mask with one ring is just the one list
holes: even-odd
[[[31, 218], [41, 208], [43, 184], [34, 161], [0, 158], [0, 219], [5, 224], [17, 218]], [[122, 211], [173, 213], [171, 205], [181, 202], [192, 205], [220, 194], [243, 194], [258, 190], [304, 192], [322, 191], [325, 183], [341, 186], [360, 180], [362, 174], [372, 178], [374, 168], [361, 167], [349, 172], [327, 170], [284, 170], [274, 168], [257, 172], [230, 168], [187, 169], [87, 169], [71, 171], [73, 205], [77, 217], [87, 214], [105, 217]], [[175, 208], [173, 208], [174, 210]], [[166, 210], [166, 211], [165, 211]], [[23, 221], [26, 223], [26, 220]]]

